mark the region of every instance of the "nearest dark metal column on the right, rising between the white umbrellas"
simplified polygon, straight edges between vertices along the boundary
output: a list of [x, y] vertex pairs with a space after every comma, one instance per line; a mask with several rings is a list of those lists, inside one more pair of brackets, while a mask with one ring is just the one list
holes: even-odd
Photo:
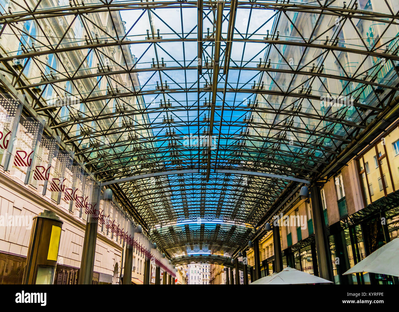
[[330, 256], [330, 247], [328, 244], [325, 220], [323, 213], [320, 191], [316, 184], [312, 184], [310, 188], [310, 198], [312, 202], [314, 237], [316, 240], [317, 264], [319, 276], [329, 281], [334, 281], [332, 273], [332, 263]]

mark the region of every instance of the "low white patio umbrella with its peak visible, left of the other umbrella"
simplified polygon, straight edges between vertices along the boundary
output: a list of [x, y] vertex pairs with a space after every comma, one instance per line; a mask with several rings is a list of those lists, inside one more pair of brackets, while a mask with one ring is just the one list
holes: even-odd
[[[269, 277], [269, 279], [266, 279]], [[263, 283], [257, 283], [258, 281], [262, 281]], [[298, 271], [296, 269], [286, 267], [279, 273], [274, 273], [272, 275], [268, 275], [259, 279], [252, 284], [262, 284], [262, 285], [288, 285], [288, 284], [318, 284], [318, 283], [332, 283], [326, 279], [322, 279], [321, 277], [314, 276], [312, 274]]]

